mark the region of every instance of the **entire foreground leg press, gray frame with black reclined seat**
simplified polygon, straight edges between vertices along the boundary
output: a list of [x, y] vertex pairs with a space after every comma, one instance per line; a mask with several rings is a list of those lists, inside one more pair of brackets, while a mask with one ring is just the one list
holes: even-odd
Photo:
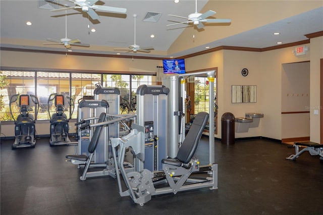
[[[200, 166], [199, 161], [194, 157], [197, 144], [206, 125], [208, 114], [199, 113], [193, 121], [192, 127], [178, 150], [176, 158], [165, 158], [162, 160], [163, 171], [142, 170], [140, 172], [127, 173], [123, 167], [125, 149], [131, 148], [138, 159], [144, 159], [144, 128], [133, 124], [131, 133], [122, 138], [111, 138], [113, 146], [115, 166], [117, 172], [120, 172], [125, 184], [126, 190], [122, 188], [120, 174], [117, 174], [119, 193], [121, 196], [130, 196], [132, 200], [143, 205], [151, 199], [151, 196], [167, 193], [176, 194], [178, 191], [192, 189], [218, 188], [218, 165]], [[116, 150], [119, 148], [119, 156], [116, 156]], [[203, 179], [192, 178], [193, 174], [205, 174]], [[161, 185], [161, 181], [166, 186], [155, 188], [155, 185]], [[167, 186], [168, 185], [168, 186]]]

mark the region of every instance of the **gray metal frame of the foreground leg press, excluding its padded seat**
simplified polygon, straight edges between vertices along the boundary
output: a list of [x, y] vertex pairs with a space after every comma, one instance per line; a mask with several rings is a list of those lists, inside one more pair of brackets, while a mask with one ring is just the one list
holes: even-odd
[[[137, 126], [132, 129], [132, 132], [124, 138], [111, 138], [113, 146], [114, 161], [116, 171], [120, 172], [127, 189], [123, 190], [120, 174], [117, 174], [119, 185], [119, 194], [121, 196], [130, 196], [132, 200], [141, 206], [151, 199], [151, 196], [167, 193], [176, 194], [178, 191], [193, 190], [199, 188], [218, 189], [218, 165], [199, 166], [198, 159], [192, 158], [192, 164], [189, 169], [177, 167], [173, 165], [163, 164], [163, 171], [154, 171], [144, 169], [141, 172], [126, 172], [123, 166], [125, 149], [131, 147], [136, 154], [136, 157], [143, 158], [142, 151], [144, 141], [144, 128]], [[116, 155], [116, 148], [119, 147], [119, 156]], [[121, 153], [120, 153], [121, 152]], [[139, 158], [138, 158], [139, 159]], [[190, 176], [194, 173], [204, 173], [203, 179], [194, 179]], [[155, 188], [154, 177], [166, 177], [169, 186]], [[201, 177], [201, 176], [199, 176]], [[159, 183], [158, 183], [159, 184]]]

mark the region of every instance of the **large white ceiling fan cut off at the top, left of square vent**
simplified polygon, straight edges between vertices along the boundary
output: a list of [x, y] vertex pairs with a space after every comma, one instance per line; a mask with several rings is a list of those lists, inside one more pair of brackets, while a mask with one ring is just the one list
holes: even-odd
[[68, 0], [68, 1], [73, 2], [76, 6], [61, 8], [61, 9], [56, 9], [51, 11], [58, 12], [58, 11], [66, 11], [66, 10], [80, 8], [82, 9], [83, 12], [86, 12], [93, 20], [97, 20], [100, 18], [94, 10], [111, 12], [111, 13], [122, 13], [122, 14], [127, 12], [127, 9], [125, 8], [95, 5], [95, 3], [98, 2], [98, 0], [75, 0], [75, 1]]

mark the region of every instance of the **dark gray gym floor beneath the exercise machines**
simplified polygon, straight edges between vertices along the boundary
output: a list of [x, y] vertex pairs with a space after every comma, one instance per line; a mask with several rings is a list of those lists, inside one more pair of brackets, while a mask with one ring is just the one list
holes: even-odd
[[[65, 155], [74, 146], [11, 150], [1, 141], [1, 214], [322, 214], [323, 164], [294, 148], [268, 140], [216, 141], [219, 189], [208, 188], [153, 196], [144, 206], [121, 197], [117, 181], [102, 177], [80, 181], [82, 170]], [[202, 137], [197, 157], [208, 160]]]

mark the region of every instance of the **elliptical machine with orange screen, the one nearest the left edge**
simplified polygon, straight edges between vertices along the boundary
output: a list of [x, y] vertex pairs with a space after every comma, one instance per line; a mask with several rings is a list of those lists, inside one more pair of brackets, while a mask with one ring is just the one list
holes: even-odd
[[[18, 101], [18, 103], [17, 103]], [[15, 103], [19, 107], [20, 115], [15, 119], [12, 112], [12, 104]], [[34, 116], [30, 114], [34, 106]], [[15, 142], [12, 145], [12, 149], [22, 147], [35, 147], [35, 120], [39, 111], [39, 101], [34, 95], [29, 94], [15, 94], [11, 96], [9, 102], [10, 114], [15, 122]]]

